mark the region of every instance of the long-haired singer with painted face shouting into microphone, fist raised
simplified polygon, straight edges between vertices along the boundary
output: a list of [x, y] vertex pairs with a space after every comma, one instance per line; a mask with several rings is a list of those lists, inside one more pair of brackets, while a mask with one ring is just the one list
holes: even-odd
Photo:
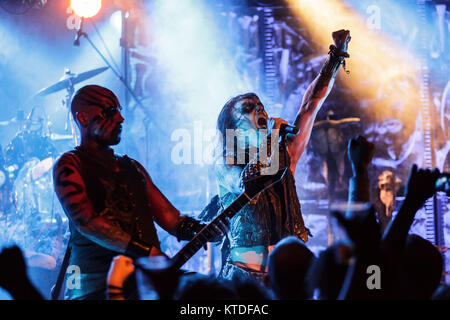
[[[340, 65], [349, 57], [347, 47], [350, 31], [333, 32], [332, 38], [334, 45], [330, 46], [329, 56], [319, 75], [309, 85], [293, 123], [293, 126], [300, 129], [299, 133], [288, 134], [289, 130], [295, 130], [293, 126], [288, 126], [283, 119], [269, 118], [263, 104], [254, 93], [230, 99], [219, 114], [217, 129], [223, 139], [226, 137], [227, 129], [240, 129], [235, 131], [237, 151], [226, 150], [224, 140], [221, 145], [223, 148], [221, 156], [224, 161], [215, 165], [219, 204], [222, 208], [227, 207], [241, 193], [240, 175], [245, 166], [236, 161], [232, 165], [227, 164], [225, 158], [230, 156], [227, 152], [231, 152], [231, 156], [237, 160], [241, 158], [238, 157], [239, 152], [249, 154], [250, 148], [258, 146], [258, 139], [249, 139], [245, 144], [246, 137], [241, 137], [239, 132], [248, 132], [251, 129], [257, 132], [261, 132], [259, 129], [281, 129], [280, 135], [285, 136], [286, 143], [280, 147], [280, 167], [290, 169], [279, 183], [260, 193], [231, 219], [229, 232], [222, 245], [220, 276], [223, 278], [231, 279], [235, 274], [245, 274], [262, 281], [267, 272], [268, 255], [279, 240], [293, 235], [305, 242], [308, 241], [309, 230], [303, 222], [294, 173], [309, 141], [315, 117], [333, 87]], [[240, 148], [242, 143], [244, 147]]]

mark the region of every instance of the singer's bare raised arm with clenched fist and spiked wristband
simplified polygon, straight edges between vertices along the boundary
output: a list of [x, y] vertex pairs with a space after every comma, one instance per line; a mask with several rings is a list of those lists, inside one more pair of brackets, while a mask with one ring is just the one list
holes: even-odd
[[333, 88], [341, 62], [337, 55], [346, 54], [350, 31], [339, 30], [333, 32], [332, 37], [336, 47], [335, 54], [332, 53], [327, 57], [319, 75], [309, 85], [294, 121], [294, 125], [300, 128], [300, 132], [292, 136], [288, 144], [292, 172], [295, 172], [297, 162], [308, 144], [316, 115]]

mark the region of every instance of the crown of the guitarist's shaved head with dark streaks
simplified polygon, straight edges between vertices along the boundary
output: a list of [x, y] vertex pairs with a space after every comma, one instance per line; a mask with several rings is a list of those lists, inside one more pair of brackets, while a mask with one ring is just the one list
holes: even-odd
[[98, 85], [87, 85], [75, 93], [70, 111], [73, 118], [76, 119], [77, 112], [90, 106], [106, 106], [105, 101], [110, 102], [110, 104], [119, 103], [116, 95], [111, 90]]

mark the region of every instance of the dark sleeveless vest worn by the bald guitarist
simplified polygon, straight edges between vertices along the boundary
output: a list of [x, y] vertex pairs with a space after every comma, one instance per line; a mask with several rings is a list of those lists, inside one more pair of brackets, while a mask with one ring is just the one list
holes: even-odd
[[[81, 176], [94, 211], [131, 236], [157, 246], [159, 240], [146, 195], [146, 181], [133, 160], [118, 157], [120, 170], [115, 172], [79, 148], [72, 151], [81, 162]], [[83, 236], [70, 222], [71, 264], [82, 273], [107, 272], [112, 258], [119, 252], [104, 248]]]

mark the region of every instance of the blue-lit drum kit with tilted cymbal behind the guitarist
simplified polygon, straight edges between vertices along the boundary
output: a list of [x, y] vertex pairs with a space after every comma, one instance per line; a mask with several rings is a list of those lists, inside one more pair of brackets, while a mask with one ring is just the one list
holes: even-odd
[[[16, 243], [25, 252], [30, 266], [56, 267], [68, 241], [68, 220], [53, 189], [52, 167], [60, 155], [57, 143], [76, 144], [75, 126], [70, 116], [70, 101], [77, 83], [90, 79], [108, 67], [74, 74], [66, 69], [56, 83], [38, 91], [33, 98], [66, 90], [66, 132], [44, 130], [44, 120], [35, 120], [36, 107], [25, 117], [23, 111], [1, 127], [16, 125], [18, 132], [4, 150], [0, 148], [0, 244]], [[62, 150], [62, 152], [67, 150]]]

